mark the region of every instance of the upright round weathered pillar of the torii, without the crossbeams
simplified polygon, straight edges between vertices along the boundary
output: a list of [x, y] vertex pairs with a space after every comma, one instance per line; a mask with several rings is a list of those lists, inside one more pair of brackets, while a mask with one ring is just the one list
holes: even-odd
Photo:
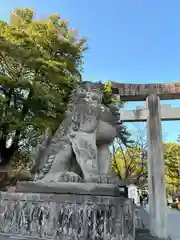
[[153, 236], [167, 238], [167, 204], [162, 145], [160, 99], [156, 94], [146, 99], [148, 133], [149, 227]]

